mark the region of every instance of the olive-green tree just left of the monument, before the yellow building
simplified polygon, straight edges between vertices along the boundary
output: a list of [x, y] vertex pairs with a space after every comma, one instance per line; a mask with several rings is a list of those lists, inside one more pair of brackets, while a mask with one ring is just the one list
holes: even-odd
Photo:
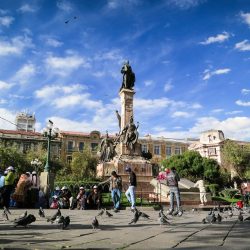
[[92, 156], [90, 149], [72, 154], [71, 171], [76, 180], [95, 176], [98, 160]]

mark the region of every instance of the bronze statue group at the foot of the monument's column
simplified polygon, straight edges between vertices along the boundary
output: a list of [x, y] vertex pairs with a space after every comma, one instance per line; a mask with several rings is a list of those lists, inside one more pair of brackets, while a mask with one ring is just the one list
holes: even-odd
[[125, 143], [126, 146], [133, 151], [135, 150], [135, 144], [139, 137], [139, 133], [137, 131], [138, 127], [139, 123], [137, 122], [137, 126], [135, 126], [133, 116], [131, 116], [129, 123], [124, 127], [121, 133], [123, 143]]

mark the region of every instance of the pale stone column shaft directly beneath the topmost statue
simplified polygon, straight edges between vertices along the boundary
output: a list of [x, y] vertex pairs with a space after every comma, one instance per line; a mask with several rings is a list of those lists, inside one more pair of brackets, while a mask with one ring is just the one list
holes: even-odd
[[130, 117], [133, 116], [134, 90], [123, 88], [120, 91], [121, 98], [121, 131], [129, 123]]

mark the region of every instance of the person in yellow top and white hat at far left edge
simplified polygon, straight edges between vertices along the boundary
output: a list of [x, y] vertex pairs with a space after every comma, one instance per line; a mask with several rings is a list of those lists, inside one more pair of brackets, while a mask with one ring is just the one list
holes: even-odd
[[3, 190], [3, 205], [6, 208], [9, 208], [10, 205], [10, 195], [14, 188], [14, 181], [15, 181], [15, 170], [12, 166], [9, 166], [7, 169], [7, 175], [4, 178], [4, 190]]

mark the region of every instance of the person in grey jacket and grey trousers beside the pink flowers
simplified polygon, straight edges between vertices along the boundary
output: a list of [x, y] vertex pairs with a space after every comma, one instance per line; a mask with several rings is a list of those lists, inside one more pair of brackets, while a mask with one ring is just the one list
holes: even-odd
[[[170, 169], [166, 170], [166, 181], [167, 181], [167, 186], [169, 187], [169, 194], [170, 194], [170, 209], [168, 211], [168, 214], [182, 216], [180, 190], [178, 186], [180, 177], [176, 172], [175, 167], [172, 167], [171, 170]], [[176, 199], [176, 206], [177, 206], [176, 212], [174, 212], [174, 197]]]

